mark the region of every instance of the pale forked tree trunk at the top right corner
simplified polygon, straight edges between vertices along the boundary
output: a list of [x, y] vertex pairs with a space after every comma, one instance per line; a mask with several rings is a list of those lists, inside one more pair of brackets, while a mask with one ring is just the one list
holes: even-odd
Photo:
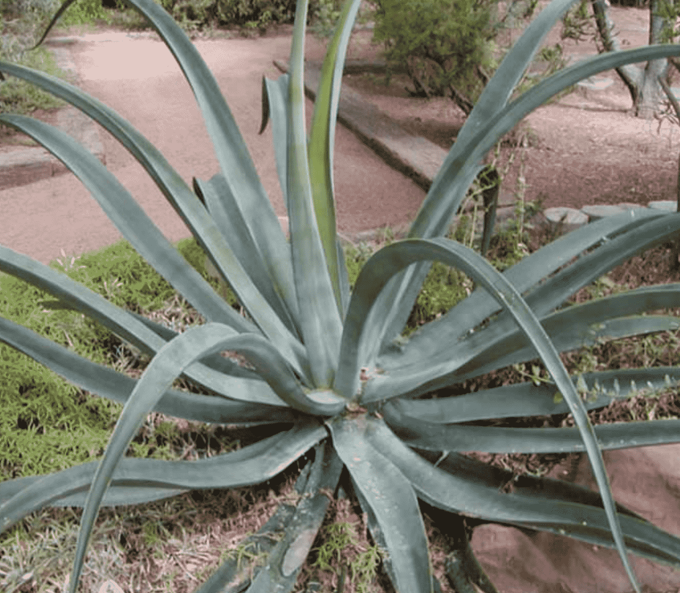
[[[654, 16], [660, 0], [649, 1], [649, 45], [656, 45], [660, 41], [661, 31], [664, 26], [664, 18]], [[673, 0], [668, 0], [673, 3]], [[614, 23], [609, 18], [609, 1], [592, 0], [593, 14], [602, 45], [605, 52], [621, 49], [617, 33], [613, 31]], [[644, 68], [635, 64], [619, 66], [617, 74], [628, 86], [630, 97], [633, 101], [633, 112], [636, 117], [652, 119], [659, 112], [663, 97], [662, 88], [658, 82], [658, 76], [668, 76], [668, 61], [663, 58], [647, 62]]]

